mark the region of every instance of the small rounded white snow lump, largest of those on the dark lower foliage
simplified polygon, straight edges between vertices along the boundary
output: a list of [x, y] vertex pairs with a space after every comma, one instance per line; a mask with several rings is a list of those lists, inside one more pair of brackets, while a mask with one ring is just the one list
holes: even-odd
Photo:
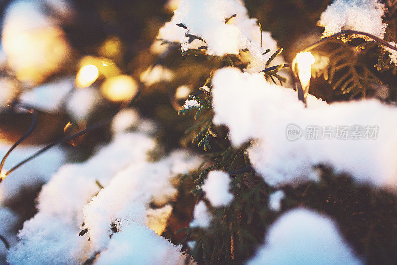
[[214, 207], [226, 207], [232, 202], [234, 196], [229, 191], [230, 176], [226, 172], [214, 170], [202, 185], [205, 196]]

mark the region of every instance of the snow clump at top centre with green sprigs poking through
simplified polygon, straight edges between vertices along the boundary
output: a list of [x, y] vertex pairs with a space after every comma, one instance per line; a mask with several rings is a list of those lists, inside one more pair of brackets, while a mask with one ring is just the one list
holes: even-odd
[[[225, 20], [231, 16], [227, 23]], [[176, 24], [182, 23], [184, 29]], [[185, 33], [199, 36], [189, 43]], [[247, 71], [258, 72], [265, 69], [266, 61], [277, 51], [277, 43], [269, 32], [261, 32], [256, 19], [248, 17], [247, 10], [239, 0], [180, 0], [174, 16], [160, 30], [157, 39], [179, 42], [182, 51], [207, 46], [208, 55], [224, 56], [241, 55], [243, 62], [248, 63]], [[242, 50], [248, 49], [249, 52]], [[271, 52], [263, 55], [270, 49]], [[274, 64], [282, 63], [281, 57]]]

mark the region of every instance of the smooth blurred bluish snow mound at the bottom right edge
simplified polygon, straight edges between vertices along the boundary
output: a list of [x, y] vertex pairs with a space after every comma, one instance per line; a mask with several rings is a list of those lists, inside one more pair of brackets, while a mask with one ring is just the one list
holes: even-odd
[[283, 214], [269, 229], [262, 245], [247, 265], [355, 265], [354, 256], [328, 217], [307, 209]]

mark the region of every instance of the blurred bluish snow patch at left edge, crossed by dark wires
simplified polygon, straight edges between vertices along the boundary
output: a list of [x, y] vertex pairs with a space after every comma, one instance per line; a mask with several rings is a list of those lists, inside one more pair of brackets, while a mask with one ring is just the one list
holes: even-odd
[[[5, 155], [12, 144], [0, 142], [0, 157]], [[16, 165], [42, 147], [35, 145], [18, 146], [5, 161], [4, 170], [6, 171]], [[66, 162], [66, 155], [66, 149], [56, 146], [16, 169], [1, 182], [0, 203], [6, 205], [20, 196], [23, 189], [38, 187], [47, 183], [58, 168]]]

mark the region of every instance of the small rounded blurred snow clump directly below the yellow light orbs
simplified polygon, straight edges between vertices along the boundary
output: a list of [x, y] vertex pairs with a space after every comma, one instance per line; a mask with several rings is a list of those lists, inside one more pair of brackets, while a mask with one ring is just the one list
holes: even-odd
[[80, 88], [70, 95], [66, 109], [74, 120], [89, 119], [102, 100], [103, 97], [97, 88]]

